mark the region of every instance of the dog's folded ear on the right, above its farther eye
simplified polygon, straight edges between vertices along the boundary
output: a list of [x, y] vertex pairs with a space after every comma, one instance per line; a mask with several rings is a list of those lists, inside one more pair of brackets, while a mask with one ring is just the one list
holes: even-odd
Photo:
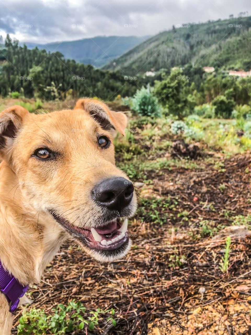
[[104, 103], [94, 99], [79, 99], [74, 109], [84, 109], [100, 124], [101, 128], [111, 131], [113, 135], [115, 135], [114, 130], [125, 135], [127, 117], [124, 113], [111, 111]]

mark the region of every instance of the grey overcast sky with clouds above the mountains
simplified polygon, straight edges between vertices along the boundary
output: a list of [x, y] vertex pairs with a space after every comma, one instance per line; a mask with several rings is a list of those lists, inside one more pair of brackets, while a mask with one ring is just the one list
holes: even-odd
[[0, 0], [0, 35], [36, 43], [145, 36], [246, 11], [250, 0]]

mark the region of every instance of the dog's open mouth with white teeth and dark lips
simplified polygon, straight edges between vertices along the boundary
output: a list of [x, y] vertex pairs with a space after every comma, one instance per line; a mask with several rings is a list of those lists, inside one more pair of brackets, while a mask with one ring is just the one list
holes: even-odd
[[128, 244], [128, 219], [115, 219], [105, 226], [80, 228], [61, 218], [54, 211], [50, 213], [73, 238], [83, 242], [92, 250], [110, 252]]

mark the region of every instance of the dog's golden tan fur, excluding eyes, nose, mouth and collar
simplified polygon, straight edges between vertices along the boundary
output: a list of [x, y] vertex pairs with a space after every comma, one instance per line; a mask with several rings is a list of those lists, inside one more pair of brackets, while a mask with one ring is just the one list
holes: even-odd
[[[89, 197], [92, 187], [107, 177], [127, 178], [115, 166], [113, 144], [105, 150], [96, 144], [96, 133], [109, 139], [114, 129], [123, 134], [126, 119], [93, 99], [50, 114], [30, 114], [20, 106], [0, 114], [0, 260], [21, 284], [39, 282], [69, 237], [48, 208], [77, 227], [89, 228], [102, 215]], [[106, 130], [101, 128], [105, 121]], [[60, 158], [46, 164], [34, 159], [32, 153], [42, 146], [59, 150]], [[133, 215], [135, 195], [132, 204]], [[99, 261], [113, 260], [84, 245], [83, 250]], [[9, 335], [11, 324], [7, 299], [0, 293], [0, 334]]]

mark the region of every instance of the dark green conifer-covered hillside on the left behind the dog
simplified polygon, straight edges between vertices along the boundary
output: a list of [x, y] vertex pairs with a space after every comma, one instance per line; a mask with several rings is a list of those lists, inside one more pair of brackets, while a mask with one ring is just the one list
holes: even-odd
[[112, 99], [117, 94], [132, 95], [136, 83], [124, 80], [119, 72], [94, 69], [93, 66], [65, 60], [60, 52], [27, 49], [11, 42], [0, 52], [0, 95], [21, 92], [26, 97], [55, 99], [67, 94]]

